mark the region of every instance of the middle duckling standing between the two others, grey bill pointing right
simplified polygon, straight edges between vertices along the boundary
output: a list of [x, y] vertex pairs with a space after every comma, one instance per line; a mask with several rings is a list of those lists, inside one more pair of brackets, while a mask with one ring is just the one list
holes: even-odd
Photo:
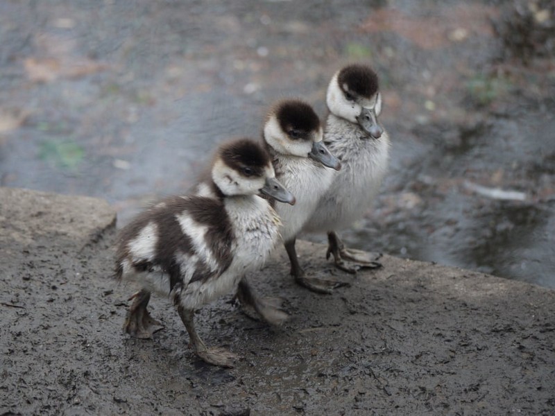
[[[296, 196], [293, 209], [285, 205], [275, 207], [282, 220], [280, 231], [291, 261], [291, 275], [298, 284], [321, 291], [320, 280], [306, 277], [300, 267], [295, 241], [318, 200], [332, 184], [332, 169], [339, 170], [341, 164], [323, 144], [320, 119], [304, 101], [289, 99], [275, 103], [266, 116], [262, 137], [273, 161], [275, 177]], [[266, 322], [279, 324], [282, 320], [279, 301], [260, 299], [246, 279], [241, 280], [237, 296], [241, 304], [255, 309]], [[246, 312], [249, 313], [248, 309]]]

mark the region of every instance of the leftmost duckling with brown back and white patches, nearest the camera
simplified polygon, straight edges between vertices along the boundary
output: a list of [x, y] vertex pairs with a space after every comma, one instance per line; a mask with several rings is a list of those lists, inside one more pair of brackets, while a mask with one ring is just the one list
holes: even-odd
[[275, 179], [263, 146], [250, 139], [226, 142], [216, 151], [205, 193], [173, 196], [139, 214], [121, 229], [116, 277], [139, 282], [123, 329], [151, 338], [161, 329], [147, 311], [151, 292], [169, 296], [203, 361], [232, 367], [235, 358], [209, 348], [194, 327], [194, 311], [237, 288], [245, 272], [262, 266], [280, 241], [280, 220], [268, 200], [295, 203]]

